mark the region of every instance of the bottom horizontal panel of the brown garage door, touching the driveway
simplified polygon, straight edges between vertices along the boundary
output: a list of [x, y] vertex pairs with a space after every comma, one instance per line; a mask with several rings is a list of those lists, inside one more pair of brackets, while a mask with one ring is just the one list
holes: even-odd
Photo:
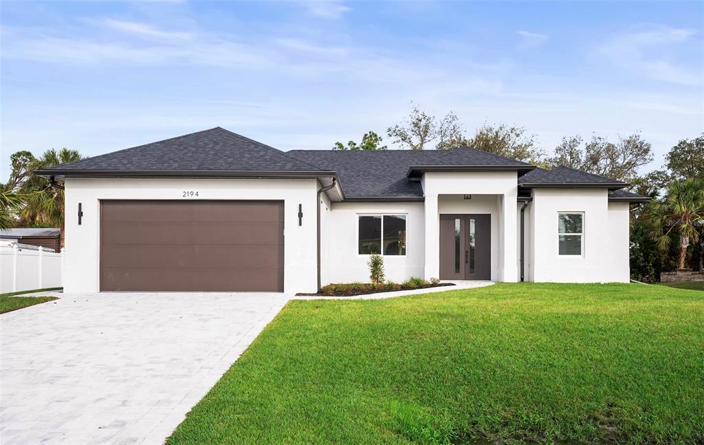
[[281, 292], [277, 283], [283, 279], [282, 270], [239, 269], [162, 269], [162, 268], [105, 268], [103, 278], [113, 283], [113, 291], [171, 291], [171, 292]]

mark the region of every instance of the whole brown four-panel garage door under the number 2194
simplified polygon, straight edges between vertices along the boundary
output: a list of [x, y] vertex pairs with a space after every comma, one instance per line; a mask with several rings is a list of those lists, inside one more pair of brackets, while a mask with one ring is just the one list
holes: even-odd
[[101, 201], [103, 291], [284, 289], [282, 201]]

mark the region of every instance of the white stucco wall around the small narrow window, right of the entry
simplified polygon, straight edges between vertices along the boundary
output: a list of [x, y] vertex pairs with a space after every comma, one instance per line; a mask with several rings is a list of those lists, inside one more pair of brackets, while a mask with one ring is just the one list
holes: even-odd
[[[534, 189], [532, 276], [536, 282], [628, 282], [628, 204], [605, 189]], [[584, 212], [581, 256], [558, 254], [558, 213]]]

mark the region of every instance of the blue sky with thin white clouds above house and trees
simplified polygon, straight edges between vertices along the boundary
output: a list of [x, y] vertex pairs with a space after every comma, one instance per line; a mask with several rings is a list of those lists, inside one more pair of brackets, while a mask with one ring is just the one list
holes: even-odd
[[[94, 156], [222, 126], [282, 150], [385, 133], [704, 132], [704, 2], [4, 1], [0, 180], [14, 151]], [[413, 102], [413, 104], [412, 104]]]

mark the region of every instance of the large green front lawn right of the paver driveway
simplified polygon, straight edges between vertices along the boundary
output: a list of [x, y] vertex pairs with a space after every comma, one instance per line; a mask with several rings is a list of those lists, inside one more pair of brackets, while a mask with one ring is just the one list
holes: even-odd
[[292, 301], [168, 444], [704, 441], [704, 298], [496, 284]]

